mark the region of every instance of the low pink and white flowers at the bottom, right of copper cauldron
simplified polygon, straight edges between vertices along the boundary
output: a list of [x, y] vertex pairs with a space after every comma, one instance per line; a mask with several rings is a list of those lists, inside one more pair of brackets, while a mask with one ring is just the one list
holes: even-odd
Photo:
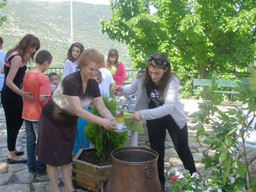
[[184, 192], [221, 192], [216, 183], [211, 180], [200, 181], [199, 174], [193, 173], [192, 176], [188, 170], [172, 169], [168, 172], [167, 189], [171, 191]]

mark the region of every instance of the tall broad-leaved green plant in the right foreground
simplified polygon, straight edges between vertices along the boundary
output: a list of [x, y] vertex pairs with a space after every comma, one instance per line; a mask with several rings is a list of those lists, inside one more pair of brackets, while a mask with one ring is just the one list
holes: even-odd
[[[228, 107], [223, 112], [217, 105], [221, 103], [220, 93], [216, 89], [215, 78], [212, 78], [210, 89], [201, 93], [205, 102], [199, 103], [200, 110], [190, 115], [197, 123], [192, 130], [196, 130], [196, 137], [204, 137], [204, 144], [210, 145], [216, 151], [214, 156], [204, 154], [202, 160], [205, 169], [213, 168], [209, 176], [222, 191], [256, 190], [256, 178], [251, 177], [250, 165], [256, 159], [254, 153], [248, 153], [250, 147], [246, 140], [256, 131], [256, 69], [253, 65], [248, 68], [251, 76], [242, 78], [238, 82], [236, 91], [241, 106]], [[205, 130], [205, 126], [212, 127], [212, 131]]]

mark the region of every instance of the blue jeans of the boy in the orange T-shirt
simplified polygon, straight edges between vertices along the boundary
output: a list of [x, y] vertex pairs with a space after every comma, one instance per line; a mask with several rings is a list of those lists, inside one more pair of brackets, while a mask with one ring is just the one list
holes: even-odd
[[24, 120], [24, 121], [26, 126], [28, 172], [37, 172], [39, 174], [46, 172], [46, 164], [41, 164], [38, 160], [36, 160], [36, 155], [35, 155], [39, 121], [36, 121], [36, 122], [32, 122], [30, 120]]

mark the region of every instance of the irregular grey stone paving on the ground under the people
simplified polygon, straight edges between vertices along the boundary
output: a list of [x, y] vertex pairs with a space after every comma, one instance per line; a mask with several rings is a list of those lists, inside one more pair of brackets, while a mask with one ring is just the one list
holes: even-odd
[[[197, 102], [196, 100], [181, 100], [184, 105], [184, 111], [186, 115], [191, 114], [192, 112], [197, 111]], [[225, 110], [225, 107], [222, 106]], [[192, 127], [190, 123], [191, 119], [188, 118], [188, 129]], [[139, 134], [139, 147], [149, 148], [146, 122], [144, 122], [144, 133]], [[131, 144], [130, 140], [131, 132], [129, 131], [129, 137], [126, 143], [127, 145]], [[203, 138], [195, 139], [196, 131], [189, 130], [189, 147], [193, 153], [193, 157], [196, 162], [196, 168], [199, 173], [205, 173], [204, 164], [201, 164], [203, 158], [203, 153], [208, 152], [209, 154], [214, 154], [208, 145], [202, 143]], [[26, 133], [24, 130], [24, 124], [20, 129], [17, 143], [17, 149], [24, 151], [26, 156]], [[3, 108], [0, 108], [0, 191], [51, 191], [51, 183], [49, 182], [48, 176], [38, 177], [36, 174], [29, 174], [26, 164], [7, 164], [7, 142], [6, 142], [6, 122]], [[172, 168], [183, 168], [179, 157], [174, 149], [170, 135], [167, 133], [166, 138], [166, 157], [165, 157], [165, 168], [166, 172]], [[59, 169], [59, 187], [60, 190], [64, 190], [63, 181], [61, 178], [61, 173]], [[77, 191], [85, 191], [80, 188], [76, 188]]]

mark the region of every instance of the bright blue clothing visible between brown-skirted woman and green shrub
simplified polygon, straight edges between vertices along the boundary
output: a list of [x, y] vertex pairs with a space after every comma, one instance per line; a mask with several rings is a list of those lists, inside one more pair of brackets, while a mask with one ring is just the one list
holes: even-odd
[[[89, 111], [88, 108], [85, 109]], [[79, 144], [81, 148], [88, 148], [90, 147], [90, 141], [87, 140], [86, 136], [84, 135], [85, 126], [87, 125], [88, 121], [78, 118], [77, 119], [77, 130], [76, 130], [76, 139], [73, 148], [73, 154], [76, 154], [79, 151]]]

